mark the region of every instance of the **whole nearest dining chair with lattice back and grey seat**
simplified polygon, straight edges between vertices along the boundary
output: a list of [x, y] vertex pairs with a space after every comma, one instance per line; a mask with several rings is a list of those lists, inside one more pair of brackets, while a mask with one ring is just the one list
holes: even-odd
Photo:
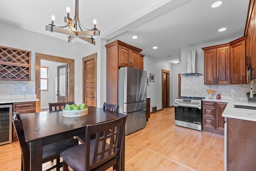
[[[68, 166], [75, 171], [103, 171], [112, 166], [116, 166], [117, 171], [120, 170], [125, 123], [126, 116], [87, 125], [85, 143], [60, 153], [63, 171], [68, 171]], [[90, 138], [93, 134], [96, 134], [95, 139]]]

